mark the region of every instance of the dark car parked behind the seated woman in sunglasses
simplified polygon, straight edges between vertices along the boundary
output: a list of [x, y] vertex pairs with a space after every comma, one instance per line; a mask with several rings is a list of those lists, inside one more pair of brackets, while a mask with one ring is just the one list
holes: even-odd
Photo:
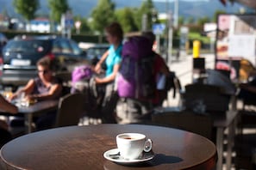
[[85, 53], [72, 39], [58, 36], [17, 36], [3, 48], [2, 85], [19, 86], [36, 76], [36, 62], [43, 57], [56, 60], [57, 72], [72, 71], [88, 63]]

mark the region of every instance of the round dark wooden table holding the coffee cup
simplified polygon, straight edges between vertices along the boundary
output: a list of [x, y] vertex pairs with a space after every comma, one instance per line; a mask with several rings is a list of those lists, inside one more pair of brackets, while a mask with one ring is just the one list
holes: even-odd
[[[120, 165], [103, 153], [116, 149], [116, 135], [139, 132], [153, 140], [152, 160]], [[0, 169], [213, 169], [217, 152], [207, 138], [188, 131], [141, 125], [98, 124], [34, 132], [6, 143]]]

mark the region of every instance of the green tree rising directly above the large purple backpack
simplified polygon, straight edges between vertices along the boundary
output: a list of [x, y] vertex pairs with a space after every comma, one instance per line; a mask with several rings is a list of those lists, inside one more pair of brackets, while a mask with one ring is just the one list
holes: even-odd
[[136, 24], [137, 27], [139, 27], [140, 29], [142, 28], [142, 20], [143, 20], [143, 15], [146, 16], [147, 18], [147, 30], [151, 30], [152, 29], [152, 25], [153, 25], [153, 11], [154, 11], [154, 6], [153, 6], [153, 2], [152, 0], [147, 0], [147, 1], [143, 1], [143, 3], [141, 3], [140, 9], [138, 10], [137, 14], [136, 14]]

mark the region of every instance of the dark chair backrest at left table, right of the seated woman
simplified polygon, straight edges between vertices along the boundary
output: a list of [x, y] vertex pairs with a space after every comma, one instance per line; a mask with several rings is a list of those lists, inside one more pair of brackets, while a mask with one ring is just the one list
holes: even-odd
[[77, 125], [84, 114], [84, 94], [66, 94], [59, 100], [56, 127]]

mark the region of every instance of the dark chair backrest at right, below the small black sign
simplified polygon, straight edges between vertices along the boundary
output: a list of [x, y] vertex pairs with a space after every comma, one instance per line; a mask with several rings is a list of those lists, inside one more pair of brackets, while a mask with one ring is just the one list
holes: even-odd
[[226, 112], [230, 102], [230, 96], [223, 94], [222, 88], [209, 84], [186, 85], [183, 99], [185, 109], [194, 112], [197, 112], [195, 109], [201, 109], [201, 113]]

